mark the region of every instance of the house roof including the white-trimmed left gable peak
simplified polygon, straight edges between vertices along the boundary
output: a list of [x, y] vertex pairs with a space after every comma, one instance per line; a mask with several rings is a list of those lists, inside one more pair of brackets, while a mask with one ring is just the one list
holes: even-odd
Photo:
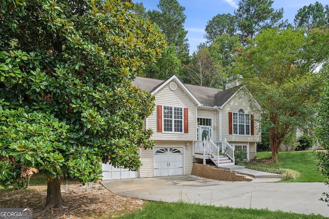
[[137, 77], [133, 81], [133, 84], [154, 95], [158, 92], [158, 90], [160, 90], [162, 87], [166, 86], [173, 80], [175, 80], [175, 82], [178, 82], [179, 85], [183, 89], [185, 89], [185, 92], [191, 97], [191, 99], [194, 100], [199, 106], [205, 107], [223, 107], [227, 102], [229, 102], [230, 99], [235, 96], [237, 91], [244, 87], [240, 85], [227, 90], [222, 90], [213, 87], [183, 84], [175, 75], [166, 81], [152, 78]]

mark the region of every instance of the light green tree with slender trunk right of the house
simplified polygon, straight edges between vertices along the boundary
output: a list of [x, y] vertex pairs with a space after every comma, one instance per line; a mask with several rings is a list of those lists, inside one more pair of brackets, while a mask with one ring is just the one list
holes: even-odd
[[314, 71], [328, 59], [328, 36], [327, 29], [315, 29], [307, 38], [302, 31], [263, 30], [236, 56], [237, 74], [243, 76], [264, 108], [264, 120], [269, 121], [273, 161], [284, 137], [315, 115], [322, 82]]

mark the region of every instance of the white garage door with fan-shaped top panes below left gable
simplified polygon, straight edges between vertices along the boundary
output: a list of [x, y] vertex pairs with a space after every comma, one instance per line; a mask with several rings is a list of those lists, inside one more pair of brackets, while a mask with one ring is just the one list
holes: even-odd
[[182, 148], [154, 148], [154, 176], [184, 175]]

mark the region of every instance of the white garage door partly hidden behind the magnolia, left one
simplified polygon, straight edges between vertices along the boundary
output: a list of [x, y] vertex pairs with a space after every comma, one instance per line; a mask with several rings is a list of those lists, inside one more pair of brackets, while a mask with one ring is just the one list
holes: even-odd
[[127, 178], [137, 178], [138, 171], [130, 171], [129, 169], [116, 168], [108, 163], [102, 163], [103, 170], [103, 180], [108, 179], [127, 179]]

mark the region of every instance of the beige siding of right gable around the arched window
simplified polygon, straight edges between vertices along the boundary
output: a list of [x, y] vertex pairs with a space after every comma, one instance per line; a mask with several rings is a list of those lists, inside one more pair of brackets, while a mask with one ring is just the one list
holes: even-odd
[[[254, 135], [229, 135], [229, 124], [228, 124], [228, 113], [237, 113], [239, 109], [244, 109], [246, 114], [254, 115]], [[260, 142], [260, 122], [261, 114], [257, 110], [258, 107], [251, 100], [248, 95], [240, 97], [235, 95], [222, 109], [222, 136], [223, 140], [226, 138], [227, 141], [239, 141], [239, 142]]]

